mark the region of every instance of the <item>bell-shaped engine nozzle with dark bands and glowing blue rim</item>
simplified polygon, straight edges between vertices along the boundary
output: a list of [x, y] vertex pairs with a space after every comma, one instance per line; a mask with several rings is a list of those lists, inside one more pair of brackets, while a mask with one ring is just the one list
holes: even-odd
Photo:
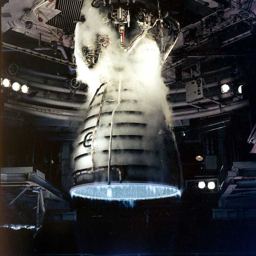
[[[126, 80], [122, 81], [122, 88], [129, 86], [129, 91], [120, 90], [118, 81], [107, 86], [93, 98], [75, 142], [71, 196], [104, 200], [178, 196], [178, 155], [173, 134], [158, 106], [161, 103], [155, 102], [159, 118], [153, 122], [151, 108], [136, 100], [142, 88], [133, 87]], [[133, 90], [136, 91], [131, 93]], [[106, 100], [102, 102], [103, 92]], [[133, 104], [122, 100], [127, 96]]]

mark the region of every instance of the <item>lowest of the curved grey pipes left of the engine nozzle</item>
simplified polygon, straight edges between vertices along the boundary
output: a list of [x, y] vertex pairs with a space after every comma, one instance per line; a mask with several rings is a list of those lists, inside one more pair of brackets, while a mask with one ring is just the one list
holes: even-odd
[[10, 110], [18, 113], [23, 114], [30, 114], [37, 117], [43, 117], [43, 118], [51, 118], [51, 119], [58, 119], [62, 121], [76, 121], [81, 122], [82, 119], [79, 117], [71, 116], [71, 115], [64, 115], [64, 114], [55, 114], [55, 113], [49, 113], [49, 112], [43, 112], [39, 110], [33, 110], [31, 108], [23, 107], [23, 106], [17, 106], [12, 105], [10, 103], [5, 103], [4, 105], [5, 110]]

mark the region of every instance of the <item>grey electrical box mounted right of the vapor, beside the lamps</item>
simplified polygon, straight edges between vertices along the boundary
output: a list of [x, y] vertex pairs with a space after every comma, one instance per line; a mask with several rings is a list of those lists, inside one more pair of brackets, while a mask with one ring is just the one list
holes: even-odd
[[203, 79], [198, 78], [186, 82], [186, 102], [192, 103], [203, 99]]

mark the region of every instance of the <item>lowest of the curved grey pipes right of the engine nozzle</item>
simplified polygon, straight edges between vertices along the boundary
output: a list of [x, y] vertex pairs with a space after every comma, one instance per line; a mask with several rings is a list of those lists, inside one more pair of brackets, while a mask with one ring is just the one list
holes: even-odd
[[247, 101], [247, 100], [239, 101], [237, 103], [230, 104], [229, 106], [222, 107], [222, 108], [216, 108], [213, 110], [206, 110], [206, 111], [201, 111], [201, 112], [191, 113], [191, 114], [176, 115], [172, 119], [173, 120], [185, 120], [185, 119], [213, 116], [213, 115], [217, 115], [217, 114], [228, 113], [230, 111], [235, 111], [240, 108], [245, 108], [247, 106], [249, 106], [249, 101]]

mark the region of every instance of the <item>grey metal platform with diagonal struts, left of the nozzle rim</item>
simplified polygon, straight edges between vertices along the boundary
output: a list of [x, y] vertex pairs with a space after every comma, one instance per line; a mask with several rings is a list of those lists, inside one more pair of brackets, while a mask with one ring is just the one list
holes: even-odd
[[51, 221], [76, 219], [76, 212], [70, 212], [69, 197], [44, 180], [41, 172], [34, 172], [33, 167], [1, 168], [1, 201], [17, 215], [14, 226], [33, 224], [39, 229], [46, 214]]

